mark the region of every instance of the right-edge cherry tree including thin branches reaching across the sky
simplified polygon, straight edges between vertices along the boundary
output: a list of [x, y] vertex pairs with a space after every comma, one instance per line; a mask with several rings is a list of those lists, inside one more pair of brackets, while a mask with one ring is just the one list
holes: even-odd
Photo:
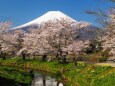
[[[107, 0], [106, 0], [107, 1]], [[115, 3], [114, 0], [108, 0]], [[86, 13], [95, 15], [98, 23], [104, 27], [103, 35], [99, 35], [99, 41], [102, 43], [103, 51], [109, 50], [112, 59], [115, 59], [115, 7], [109, 8], [107, 11], [86, 11]]]

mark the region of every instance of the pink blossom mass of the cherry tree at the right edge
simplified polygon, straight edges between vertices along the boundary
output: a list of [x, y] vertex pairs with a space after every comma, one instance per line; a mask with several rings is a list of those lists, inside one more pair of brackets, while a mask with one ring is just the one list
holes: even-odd
[[103, 37], [103, 48], [110, 49], [110, 59], [115, 59], [115, 9], [110, 10], [108, 26], [105, 29], [107, 33]]

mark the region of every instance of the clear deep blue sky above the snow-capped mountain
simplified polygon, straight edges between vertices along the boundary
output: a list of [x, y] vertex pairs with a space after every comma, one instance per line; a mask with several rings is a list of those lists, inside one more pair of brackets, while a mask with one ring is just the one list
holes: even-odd
[[86, 10], [107, 10], [113, 3], [105, 0], [0, 0], [0, 21], [12, 21], [13, 27], [36, 19], [48, 11], [61, 11], [77, 21], [95, 22]]

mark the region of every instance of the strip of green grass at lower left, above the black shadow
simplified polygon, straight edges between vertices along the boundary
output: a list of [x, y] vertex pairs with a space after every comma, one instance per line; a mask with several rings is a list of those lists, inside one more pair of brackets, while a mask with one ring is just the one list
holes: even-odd
[[16, 83], [22, 83], [26, 86], [31, 84], [32, 77], [28, 71], [16, 69], [14, 67], [0, 66], [0, 77], [14, 80]]

